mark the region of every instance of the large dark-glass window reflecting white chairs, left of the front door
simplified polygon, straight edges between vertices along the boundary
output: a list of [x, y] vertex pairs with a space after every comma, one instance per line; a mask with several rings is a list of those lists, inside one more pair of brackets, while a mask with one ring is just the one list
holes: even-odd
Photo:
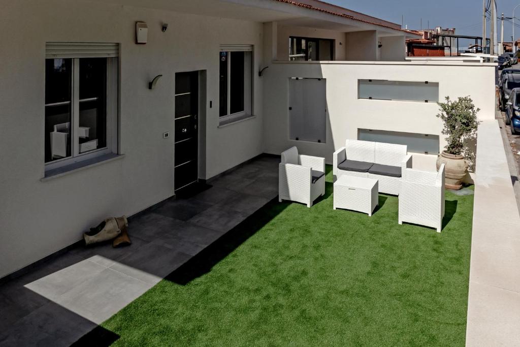
[[116, 127], [116, 65], [116, 58], [45, 60], [46, 164], [54, 168], [68, 158], [77, 161], [110, 149], [109, 132]]

